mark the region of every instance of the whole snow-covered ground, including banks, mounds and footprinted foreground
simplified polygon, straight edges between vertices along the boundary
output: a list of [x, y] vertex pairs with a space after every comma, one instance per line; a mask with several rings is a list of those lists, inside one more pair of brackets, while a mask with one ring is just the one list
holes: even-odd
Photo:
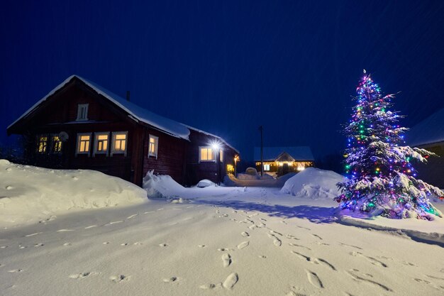
[[3, 161], [0, 295], [444, 295], [444, 222], [343, 224], [338, 178], [307, 170], [281, 192], [150, 175], [162, 198], [148, 200], [97, 172]]

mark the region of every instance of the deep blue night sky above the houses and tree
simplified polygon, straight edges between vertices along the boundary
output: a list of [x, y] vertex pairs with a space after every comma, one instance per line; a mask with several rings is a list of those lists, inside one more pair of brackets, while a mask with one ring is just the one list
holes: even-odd
[[[444, 108], [444, 1], [2, 1], [0, 143], [72, 74], [162, 116], [265, 146], [345, 146], [365, 68], [412, 126]], [[316, 2], [316, 3], [311, 3]]]

